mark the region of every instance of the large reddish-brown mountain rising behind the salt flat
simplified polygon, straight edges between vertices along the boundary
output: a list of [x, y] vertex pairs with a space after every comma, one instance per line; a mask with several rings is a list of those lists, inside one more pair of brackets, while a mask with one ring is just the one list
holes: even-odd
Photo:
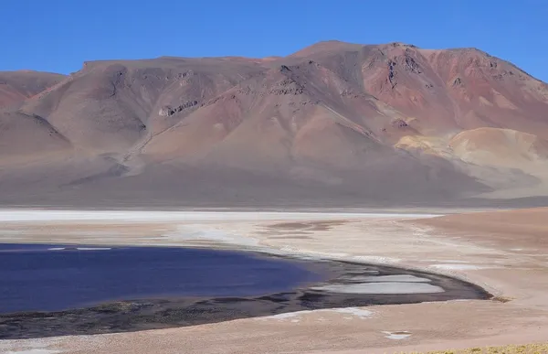
[[547, 112], [546, 83], [475, 48], [327, 41], [285, 58], [92, 61], [0, 111], [0, 201], [538, 198]]

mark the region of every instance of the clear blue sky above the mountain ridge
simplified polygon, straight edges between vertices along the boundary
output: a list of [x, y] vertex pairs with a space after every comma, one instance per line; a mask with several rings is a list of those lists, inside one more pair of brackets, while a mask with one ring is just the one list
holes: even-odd
[[0, 0], [0, 70], [288, 55], [338, 39], [477, 47], [548, 81], [548, 0]]

